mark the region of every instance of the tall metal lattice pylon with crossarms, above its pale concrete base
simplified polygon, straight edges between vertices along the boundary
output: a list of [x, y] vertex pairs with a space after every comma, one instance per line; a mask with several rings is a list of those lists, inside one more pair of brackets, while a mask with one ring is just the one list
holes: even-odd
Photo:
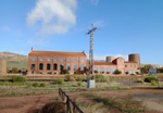
[[89, 74], [93, 74], [93, 32], [97, 29], [97, 27], [93, 27], [91, 24], [91, 29], [86, 33], [86, 35], [90, 34], [90, 50], [89, 50]]

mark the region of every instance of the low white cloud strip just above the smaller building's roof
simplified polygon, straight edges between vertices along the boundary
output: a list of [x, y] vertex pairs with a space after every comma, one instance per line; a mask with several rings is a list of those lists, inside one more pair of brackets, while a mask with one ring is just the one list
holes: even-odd
[[[108, 54], [108, 55], [93, 54], [95, 60], [104, 60], [105, 61], [106, 56], [115, 56], [115, 58], [122, 56], [125, 61], [128, 61], [128, 55], [123, 55], [123, 54]], [[89, 54], [87, 54], [87, 59], [89, 59]]]

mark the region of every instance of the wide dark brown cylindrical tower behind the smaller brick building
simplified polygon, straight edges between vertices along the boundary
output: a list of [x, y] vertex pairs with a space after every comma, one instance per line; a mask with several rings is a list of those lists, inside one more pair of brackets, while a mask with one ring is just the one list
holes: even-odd
[[137, 62], [137, 63], [138, 63], [138, 67], [139, 67], [139, 68], [141, 67], [141, 64], [140, 64], [140, 55], [139, 55], [138, 53], [129, 54], [129, 55], [128, 55], [128, 61]]

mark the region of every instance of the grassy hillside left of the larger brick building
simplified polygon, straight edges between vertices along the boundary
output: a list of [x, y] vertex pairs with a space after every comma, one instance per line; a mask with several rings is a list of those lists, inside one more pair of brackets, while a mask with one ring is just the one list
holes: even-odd
[[18, 67], [27, 70], [28, 56], [12, 52], [0, 52], [0, 59], [7, 60], [8, 68]]

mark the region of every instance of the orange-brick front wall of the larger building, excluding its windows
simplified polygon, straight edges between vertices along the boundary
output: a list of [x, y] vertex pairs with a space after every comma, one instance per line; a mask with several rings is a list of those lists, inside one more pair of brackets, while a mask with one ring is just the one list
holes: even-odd
[[[35, 61], [32, 61], [32, 58], [35, 58]], [[40, 58], [43, 58], [43, 61], [39, 61]], [[51, 61], [47, 61], [47, 59], [50, 58]], [[58, 61], [55, 62], [53, 59], [57, 58]], [[64, 59], [63, 62], [61, 62], [61, 59]], [[71, 62], [67, 62], [67, 59], [71, 59]], [[74, 62], [74, 59], [77, 59], [77, 62]], [[80, 60], [84, 60], [84, 62], [80, 62]], [[28, 55], [28, 74], [32, 74], [32, 63], [35, 63], [35, 73], [42, 73], [42, 74], [48, 74], [48, 73], [52, 73], [52, 74], [60, 74], [60, 64], [64, 65], [64, 70], [67, 68], [67, 64], [71, 65], [71, 71], [70, 74], [74, 74], [74, 73], [86, 73], [86, 56], [62, 56], [62, 55]], [[42, 63], [43, 64], [43, 70], [39, 71], [39, 64]], [[50, 64], [50, 71], [47, 71], [47, 64]], [[58, 70], [53, 71], [53, 64], [58, 64]], [[74, 71], [74, 64], [77, 64], [77, 71]], [[80, 71], [80, 64], [84, 64], [84, 71]]]

